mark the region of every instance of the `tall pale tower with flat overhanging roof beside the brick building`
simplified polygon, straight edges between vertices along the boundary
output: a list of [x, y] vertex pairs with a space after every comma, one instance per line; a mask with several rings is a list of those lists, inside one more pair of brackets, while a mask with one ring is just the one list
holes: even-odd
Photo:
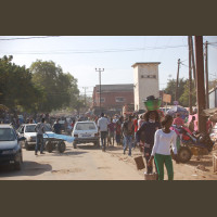
[[135, 110], [145, 110], [143, 101], [149, 95], [159, 97], [158, 65], [159, 62], [135, 63]]

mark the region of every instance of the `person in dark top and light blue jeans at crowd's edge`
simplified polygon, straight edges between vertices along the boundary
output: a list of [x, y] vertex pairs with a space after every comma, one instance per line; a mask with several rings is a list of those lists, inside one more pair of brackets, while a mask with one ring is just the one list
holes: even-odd
[[129, 120], [124, 122], [123, 133], [124, 133], [124, 154], [127, 150], [127, 146], [129, 146], [128, 155], [131, 156], [131, 144], [132, 144], [132, 138], [135, 133], [132, 116], [129, 116]]

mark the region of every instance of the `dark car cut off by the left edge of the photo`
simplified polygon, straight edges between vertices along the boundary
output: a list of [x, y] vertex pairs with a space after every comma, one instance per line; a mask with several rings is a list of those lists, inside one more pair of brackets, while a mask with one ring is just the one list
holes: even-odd
[[8, 124], [0, 125], [0, 164], [14, 164], [15, 169], [20, 170], [23, 163], [21, 141], [15, 129]]

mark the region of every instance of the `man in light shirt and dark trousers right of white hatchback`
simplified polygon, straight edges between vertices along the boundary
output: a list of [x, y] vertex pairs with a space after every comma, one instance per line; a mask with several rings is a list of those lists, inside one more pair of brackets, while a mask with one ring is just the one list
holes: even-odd
[[108, 125], [107, 118], [104, 117], [104, 113], [101, 114], [101, 118], [98, 120], [98, 127], [100, 131], [100, 137], [101, 137], [101, 145], [102, 145], [102, 151], [105, 151], [105, 140], [107, 136], [107, 125]]

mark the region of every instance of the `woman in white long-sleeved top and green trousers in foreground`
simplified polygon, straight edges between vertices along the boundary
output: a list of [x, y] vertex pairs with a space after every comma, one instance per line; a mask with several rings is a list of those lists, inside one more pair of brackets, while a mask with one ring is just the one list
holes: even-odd
[[152, 165], [152, 161], [154, 158], [158, 180], [164, 180], [164, 164], [167, 169], [168, 180], [174, 180], [174, 167], [170, 155], [170, 145], [173, 145], [173, 152], [175, 154], [175, 161], [178, 163], [177, 157], [177, 146], [176, 146], [176, 132], [170, 130], [169, 128], [173, 125], [173, 117], [170, 115], [166, 115], [164, 120], [162, 122], [162, 129], [158, 129], [155, 132], [154, 137], [154, 146], [152, 149], [151, 158], [149, 159], [148, 165]]

